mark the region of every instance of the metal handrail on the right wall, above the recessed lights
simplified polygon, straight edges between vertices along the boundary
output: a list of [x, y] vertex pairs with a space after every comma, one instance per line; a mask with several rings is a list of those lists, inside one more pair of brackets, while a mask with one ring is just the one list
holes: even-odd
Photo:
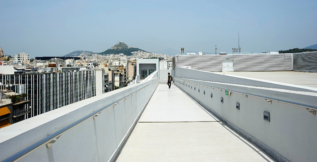
[[[175, 80], [184, 81], [184, 80], [181, 80], [181, 79], [175, 79]], [[190, 82], [190, 81], [187, 81], [187, 82]], [[194, 83], [194, 82], [190, 82], [190, 83]], [[198, 83], [195, 83], [195, 84], [198, 84]], [[200, 85], [203, 85], [203, 84], [200, 84]], [[208, 87], [207, 85], [203, 85], [203, 86]], [[214, 87], [214, 86], [209, 86], [209, 87]], [[214, 87], [214, 88], [223, 89], [223, 90], [227, 90], [227, 91], [230, 91], [230, 92], [240, 93], [240, 94], [243, 94], [243, 95], [246, 94], [246, 95], [250, 95], [250, 96], [260, 97], [260, 98], [263, 98], [263, 99], [274, 100], [274, 101], [283, 102], [283, 103], [287, 103], [287, 104], [291, 104], [291, 105], [295, 105], [295, 106], [300, 106], [300, 107], [304, 107], [304, 108], [317, 110], [316, 106], [301, 104], [301, 103], [287, 101], [287, 100], [280, 100], [280, 99], [266, 97], [266, 96], [261, 96], [261, 95], [257, 95], [257, 94], [244, 93], [244, 92], [234, 91], [234, 90], [230, 90], [230, 89], [224, 89], [224, 88], [220, 88], [220, 87]]]

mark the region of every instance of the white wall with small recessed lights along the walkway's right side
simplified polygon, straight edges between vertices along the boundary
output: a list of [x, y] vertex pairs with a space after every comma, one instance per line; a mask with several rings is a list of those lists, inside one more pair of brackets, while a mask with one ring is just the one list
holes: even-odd
[[[175, 73], [177, 77], [174, 80], [178, 87], [275, 159], [279, 161], [285, 159], [289, 161], [316, 161], [316, 115], [301, 106], [274, 100], [270, 104], [264, 98], [251, 95], [245, 97], [241, 94], [255, 94], [315, 107], [317, 105], [316, 92], [270, 88], [277, 85], [269, 82], [267, 83], [268, 87], [242, 85], [241, 83], [247, 81], [245, 78], [226, 75], [212, 74], [215, 77], [210, 77], [207, 80], [206, 77], [210, 76], [208, 72], [196, 75], [197, 70], [183, 68], [176, 68]], [[185, 79], [191, 77], [195, 80]], [[232, 81], [236, 84], [221, 81]], [[249, 81], [249, 83], [252, 82], [256, 81]], [[258, 82], [260, 85], [264, 84]], [[270, 86], [270, 84], [272, 85]], [[223, 90], [220, 91], [218, 88]], [[294, 89], [296, 88], [298, 87], [294, 87]], [[225, 95], [225, 90], [236, 92], [228, 96]], [[316, 88], [310, 90], [316, 90]], [[212, 94], [212, 98], [210, 94]], [[223, 103], [221, 103], [221, 97], [223, 97]], [[240, 110], [236, 109], [237, 102], [240, 103]], [[263, 120], [264, 111], [270, 113], [270, 122]]]

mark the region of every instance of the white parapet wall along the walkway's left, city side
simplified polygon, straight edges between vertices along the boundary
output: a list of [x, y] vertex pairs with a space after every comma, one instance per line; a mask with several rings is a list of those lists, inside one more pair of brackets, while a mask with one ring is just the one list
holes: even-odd
[[100, 115], [63, 133], [51, 147], [44, 144], [21, 161], [113, 161], [157, 86], [155, 78], [1, 128], [0, 161], [98, 112]]

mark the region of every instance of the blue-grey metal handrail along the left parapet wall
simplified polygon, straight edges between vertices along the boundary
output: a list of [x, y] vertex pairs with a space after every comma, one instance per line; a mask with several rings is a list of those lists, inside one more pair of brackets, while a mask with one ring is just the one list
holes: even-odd
[[[155, 80], [156, 81], [156, 80]], [[154, 83], [155, 81], [152, 81], [151, 83], [147, 84], [146, 86], [140, 88], [138, 91], [133, 92], [137, 93], [139, 92], [141, 89], [149, 86], [150, 84]], [[102, 112], [104, 109], [106, 109], [107, 107], [110, 107], [114, 104], [116, 104], [117, 102], [119, 102], [120, 100], [124, 100], [125, 98], [129, 97], [131, 94], [126, 95], [125, 97], [120, 98], [119, 100], [116, 100], [110, 104], [108, 104], [107, 106], [104, 106], [100, 109], [98, 109], [97, 111], [94, 111], [93, 113], [90, 113], [88, 115], [86, 115], [85, 117], [75, 121], [74, 123], [65, 126], [64, 128], [61, 128], [60, 130], [48, 135], [47, 137], [37, 141], [36, 143], [32, 144], [31, 146], [28, 146], [27, 148], [15, 153], [14, 155], [10, 156], [9, 158], [3, 160], [3, 162], [10, 162], [10, 161], [17, 161], [19, 159], [22, 159], [23, 157], [25, 157], [26, 155], [30, 154], [31, 152], [35, 151], [36, 149], [46, 145], [47, 143], [49, 143], [50, 141], [58, 138], [59, 136], [61, 136], [62, 134], [66, 133], [68, 130], [74, 128], [75, 126], [78, 126], [79, 124], [81, 124], [82, 122], [88, 120], [91, 117], [94, 117], [95, 115], [99, 114], [100, 112]]]

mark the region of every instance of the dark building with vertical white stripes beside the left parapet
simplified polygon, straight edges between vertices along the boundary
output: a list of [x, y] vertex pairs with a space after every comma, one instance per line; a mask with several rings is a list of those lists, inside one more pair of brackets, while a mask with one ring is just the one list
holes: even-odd
[[30, 118], [96, 95], [95, 70], [66, 73], [0, 75], [0, 87], [12, 85], [16, 93], [26, 93]]

